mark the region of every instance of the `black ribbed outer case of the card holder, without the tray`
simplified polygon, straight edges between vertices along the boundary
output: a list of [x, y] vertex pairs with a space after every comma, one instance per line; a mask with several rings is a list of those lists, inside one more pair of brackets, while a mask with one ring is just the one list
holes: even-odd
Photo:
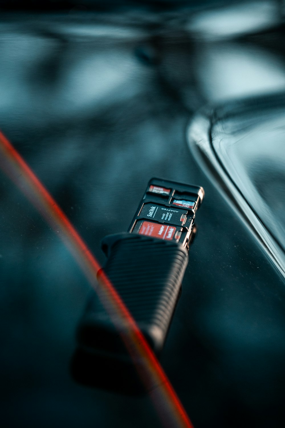
[[[175, 242], [135, 234], [111, 235], [105, 238], [104, 247], [108, 247], [106, 274], [154, 351], [159, 352], [178, 300], [188, 251]], [[95, 295], [79, 326], [79, 343], [97, 352], [126, 354]]]

